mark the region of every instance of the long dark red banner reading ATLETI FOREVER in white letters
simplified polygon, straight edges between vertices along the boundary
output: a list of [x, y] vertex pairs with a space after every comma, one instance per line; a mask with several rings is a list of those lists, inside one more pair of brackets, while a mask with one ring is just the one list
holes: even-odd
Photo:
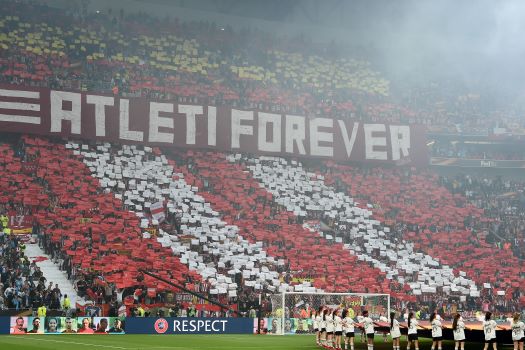
[[417, 125], [1, 87], [0, 108], [9, 107], [0, 114], [4, 131], [342, 161], [427, 162], [425, 132]]

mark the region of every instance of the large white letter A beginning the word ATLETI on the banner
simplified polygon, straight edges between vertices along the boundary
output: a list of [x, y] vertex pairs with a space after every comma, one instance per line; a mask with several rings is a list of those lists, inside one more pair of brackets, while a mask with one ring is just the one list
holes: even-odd
[[[81, 95], [74, 92], [51, 90], [51, 132], [62, 132], [62, 120], [71, 121], [71, 133], [81, 133]], [[64, 101], [71, 102], [71, 110], [62, 108]]]

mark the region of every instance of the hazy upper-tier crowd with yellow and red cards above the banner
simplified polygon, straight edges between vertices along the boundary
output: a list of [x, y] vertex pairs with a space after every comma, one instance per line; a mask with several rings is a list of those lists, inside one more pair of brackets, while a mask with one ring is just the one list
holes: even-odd
[[[75, 2], [73, 2], [75, 3]], [[304, 36], [115, 9], [2, 1], [0, 81], [354, 120], [430, 131], [517, 130], [519, 114], [485, 106], [452, 82], [391, 91], [359, 53]], [[445, 85], [443, 85], [445, 84]], [[442, 93], [447, 91], [447, 94]]]

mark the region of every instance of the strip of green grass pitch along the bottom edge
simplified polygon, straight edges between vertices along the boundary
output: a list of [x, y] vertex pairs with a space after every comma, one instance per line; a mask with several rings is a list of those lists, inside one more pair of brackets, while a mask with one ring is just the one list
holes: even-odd
[[[404, 338], [404, 337], [403, 337]], [[430, 340], [421, 339], [419, 348], [430, 349]], [[498, 346], [511, 349], [512, 346]], [[321, 349], [314, 344], [312, 335], [28, 335], [0, 336], [0, 349]], [[374, 350], [391, 350], [392, 343], [377, 337]], [[406, 349], [406, 342], [401, 342]], [[413, 348], [412, 348], [413, 349]], [[443, 350], [453, 350], [454, 343], [445, 341]], [[467, 342], [465, 350], [482, 350], [482, 343]], [[356, 341], [355, 350], [366, 350], [366, 344]]]

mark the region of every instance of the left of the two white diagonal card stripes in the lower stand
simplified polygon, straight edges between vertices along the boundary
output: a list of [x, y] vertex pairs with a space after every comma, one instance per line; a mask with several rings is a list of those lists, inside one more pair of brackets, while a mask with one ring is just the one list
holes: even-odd
[[[243, 276], [238, 270], [238, 262], [228, 257], [233, 253], [236, 257], [251, 258], [254, 269], [263, 271], [270, 271], [270, 269], [275, 271], [275, 269], [264, 257], [256, 259], [252, 256], [260, 251], [260, 248], [247, 244], [246, 241], [240, 240], [240, 237], [235, 240], [233, 239], [235, 237], [232, 237], [229, 242], [223, 243], [225, 237], [212, 236], [217, 232], [226, 232], [223, 223], [216, 220], [218, 215], [216, 212], [203, 210], [202, 200], [196, 198], [195, 193], [192, 192], [196, 191], [194, 187], [188, 187], [182, 179], [173, 181], [174, 177], [181, 176], [177, 172], [180, 169], [174, 161], [167, 160], [158, 148], [117, 145], [109, 147], [109, 144], [101, 146], [96, 143], [82, 145], [69, 143], [68, 147], [79, 149], [75, 152], [80, 152], [84, 157], [85, 164], [92, 169], [92, 175], [101, 180], [104, 191], [110, 191], [117, 198], [122, 199], [123, 210], [135, 212], [141, 217], [141, 227], [154, 229], [151, 231], [152, 237], [162, 237], [163, 246], [172, 245], [175, 254], [180, 255], [182, 260], [191, 267], [197, 268], [199, 272], [209, 271], [209, 266], [216, 267], [214, 272], [217, 276], [221, 276], [218, 279], [224, 278], [226, 280], [224, 286], [231, 286], [230, 289], [233, 288], [235, 293], [226, 295], [226, 290], [218, 293], [217, 285], [198, 279], [186, 281], [187, 289], [223, 304], [238, 305], [240, 311], [247, 312], [258, 294], [253, 284], [249, 286], [244, 282], [253, 281], [255, 275]], [[105, 172], [95, 171], [97, 166], [105, 169]], [[116, 176], [117, 173], [122, 176]], [[160, 223], [148, 209], [152, 202], [159, 200], [167, 203], [164, 210], [165, 220], [161, 220]], [[203, 234], [209, 237], [203, 240]], [[146, 236], [149, 237], [150, 234], [147, 233]], [[221, 244], [217, 244], [218, 240]], [[227, 249], [228, 252], [216, 251], [217, 248]], [[277, 272], [281, 273], [284, 269], [285, 267], [282, 266]], [[146, 288], [143, 288], [143, 298], [140, 300], [146, 300], [148, 304], [166, 303], [173, 299], [169, 294], [163, 291], [155, 298], [150, 298]], [[185, 295], [188, 296], [187, 293]], [[191, 298], [193, 299], [195, 297]]]

